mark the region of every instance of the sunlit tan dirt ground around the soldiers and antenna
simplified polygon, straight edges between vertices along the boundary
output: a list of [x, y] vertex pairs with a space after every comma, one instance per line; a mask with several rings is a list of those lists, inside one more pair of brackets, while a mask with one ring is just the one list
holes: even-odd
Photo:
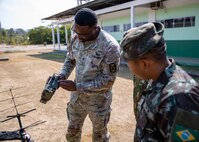
[[[41, 92], [48, 76], [59, 72], [62, 63], [52, 60], [37, 58], [44, 52], [52, 49], [30, 50], [20, 52], [0, 52], [0, 57], [8, 57], [8, 61], [0, 61], [0, 121], [8, 115], [14, 115], [14, 109], [4, 109], [13, 106], [10, 100], [10, 88], [15, 96], [29, 95], [16, 98], [17, 104], [29, 102], [19, 106], [19, 112], [36, 108], [36, 111], [26, 114], [22, 118], [23, 126], [28, 126], [36, 121], [46, 121], [43, 124], [27, 129], [35, 142], [65, 142], [65, 132], [68, 120], [66, 118], [66, 104], [69, 101], [70, 92], [58, 89], [53, 98], [47, 103], [39, 102]], [[74, 72], [71, 74], [74, 79]], [[121, 67], [116, 82], [113, 86], [113, 101], [111, 119], [108, 125], [112, 142], [132, 142], [135, 128], [132, 100], [133, 85], [131, 75], [126, 67]], [[12, 131], [19, 129], [17, 119], [0, 123], [0, 131]], [[82, 142], [91, 142], [92, 126], [87, 117], [82, 133]]]

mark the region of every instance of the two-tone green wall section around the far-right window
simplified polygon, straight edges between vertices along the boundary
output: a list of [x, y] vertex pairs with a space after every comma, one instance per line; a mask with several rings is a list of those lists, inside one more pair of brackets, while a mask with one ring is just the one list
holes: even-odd
[[199, 4], [159, 10], [156, 19], [181, 18], [195, 16], [194, 27], [167, 28], [164, 37], [170, 56], [199, 58]]

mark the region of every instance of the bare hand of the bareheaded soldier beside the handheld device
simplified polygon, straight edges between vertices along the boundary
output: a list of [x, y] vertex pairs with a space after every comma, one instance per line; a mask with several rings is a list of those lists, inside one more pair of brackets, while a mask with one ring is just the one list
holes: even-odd
[[68, 91], [76, 91], [76, 83], [72, 80], [59, 80], [59, 86]]

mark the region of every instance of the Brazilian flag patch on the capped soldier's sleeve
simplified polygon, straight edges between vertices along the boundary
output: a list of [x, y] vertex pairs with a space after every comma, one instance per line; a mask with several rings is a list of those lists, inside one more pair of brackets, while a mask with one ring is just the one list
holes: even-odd
[[172, 137], [174, 142], [199, 142], [199, 131], [176, 124]]

